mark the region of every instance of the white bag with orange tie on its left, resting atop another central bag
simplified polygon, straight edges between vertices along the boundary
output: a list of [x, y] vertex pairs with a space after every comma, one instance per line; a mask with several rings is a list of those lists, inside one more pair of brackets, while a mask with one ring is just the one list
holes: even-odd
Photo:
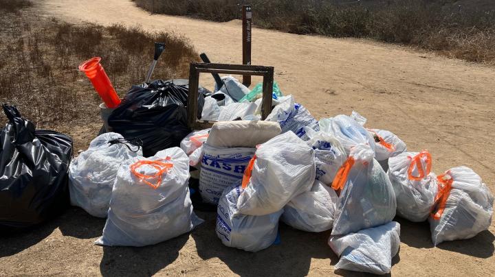
[[293, 132], [263, 143], [243, 178], [237, 208], [244, 215], [268, 215], [309, 191], [315, 180], [314, 150]]

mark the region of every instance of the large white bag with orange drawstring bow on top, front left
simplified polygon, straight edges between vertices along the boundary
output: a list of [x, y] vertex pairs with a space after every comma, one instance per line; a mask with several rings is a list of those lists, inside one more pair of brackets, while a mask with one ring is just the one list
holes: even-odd
[[117, 173], [107, 224], [97, 244], [152, 245], [201, 223], [189, 198], [189, 159], [179, 147], [133, 158]]

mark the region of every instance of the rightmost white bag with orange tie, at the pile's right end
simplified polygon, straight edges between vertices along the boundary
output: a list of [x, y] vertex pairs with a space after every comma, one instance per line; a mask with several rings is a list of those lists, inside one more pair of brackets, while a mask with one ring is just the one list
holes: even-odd
[[494, 197], [480, 176], [467, 167], [454, 167], [437, 178], [439, 191], [430, 221], [434, 245], [470, 239], [492, 223]]

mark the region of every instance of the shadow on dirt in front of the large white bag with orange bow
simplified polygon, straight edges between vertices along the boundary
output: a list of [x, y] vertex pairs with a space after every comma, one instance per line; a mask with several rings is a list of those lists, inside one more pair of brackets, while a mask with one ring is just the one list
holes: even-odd
[[103, 246], [100, 273], [102, 276], [152, 276], [177, 259], [188, 239], [189, 233], [186, 233], [141, 248]]

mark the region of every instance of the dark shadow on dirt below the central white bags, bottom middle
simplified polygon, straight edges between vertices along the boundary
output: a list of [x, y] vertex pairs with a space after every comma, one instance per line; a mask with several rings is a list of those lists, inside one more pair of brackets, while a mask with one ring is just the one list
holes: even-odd
[[330, 232], [311, 233], [294, 230], [279, 224], [281, 243], [256, 253], [228, 248], [215, 234], [217, 213], [197, 212], [205, 219], [192, 232], [197, 252], [201, 258], [218, 257], [240, 276], [306, 276], [311, 258], [328, 258], [336, 263], [338, 258], [327, 244]]

